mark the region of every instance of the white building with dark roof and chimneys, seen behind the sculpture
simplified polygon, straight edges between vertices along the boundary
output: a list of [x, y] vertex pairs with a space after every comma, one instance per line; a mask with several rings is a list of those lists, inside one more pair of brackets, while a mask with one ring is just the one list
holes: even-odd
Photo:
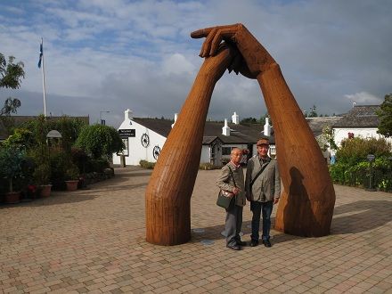
[[[175, 115], [176, 120], [176, 115]], [[140, 160], [156, 162], [167, 135], [176, 121], [159, 118], [133, 118], [132, 111], [125, 111], [123, 123], [118, 133], [123, 137], [126, 149], [123, 151], [126, 165], [139, 165]], [[265, 137], [263, 129], [271, 130], [258, 124], [240, 125], [240, 118], [234, 112], [232, 122], [206, 121], [201, 149], [200, 163], [222, 165], [222, 159], [229, 159], [233, 148], [248, 149], [249, 156], [256, 154], [256, 142]], [[274, 137], [269, 137], [271, 151], [274, 151]], [[273, 154], [274, 155], [274, 154]], [[113, 154], [113, 164], [120, 164], [120, 155]]]

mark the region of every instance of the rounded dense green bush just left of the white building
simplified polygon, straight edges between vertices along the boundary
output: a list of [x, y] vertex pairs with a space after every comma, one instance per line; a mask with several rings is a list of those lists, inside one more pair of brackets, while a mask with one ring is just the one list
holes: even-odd
[[94, 159], [102, 157], [110, 159], [112, 153], [120, 152], [125, 148], [114, 127], [98, 124], [83, 127], [75, 145], [90, 153]]

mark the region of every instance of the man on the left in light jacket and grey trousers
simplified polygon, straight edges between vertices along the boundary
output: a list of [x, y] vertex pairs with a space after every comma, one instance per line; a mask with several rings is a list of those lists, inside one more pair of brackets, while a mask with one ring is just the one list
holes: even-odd
[[247, 244], [241, 241], [240, 237], [242, 209], [246, 203], [244, 176], [241, 167], [241, 149], [233, 148], [230, 159], [230, 162], [225, 167], [222, 167], [222, 172], [216, 181], [216, 185], [221, 190], [232, 193], [234, 198], [230, 207], [226, 209], [226, 247], [233, 250], [241, 250], [241, 246]]

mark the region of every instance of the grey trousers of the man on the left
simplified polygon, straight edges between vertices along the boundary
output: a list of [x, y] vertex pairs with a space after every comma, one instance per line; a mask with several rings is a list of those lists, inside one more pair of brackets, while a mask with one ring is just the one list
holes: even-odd
[[226, 210], [226, 245], [235, 245], [241, 241], [242, 210], [241, 206], [234, 203]]

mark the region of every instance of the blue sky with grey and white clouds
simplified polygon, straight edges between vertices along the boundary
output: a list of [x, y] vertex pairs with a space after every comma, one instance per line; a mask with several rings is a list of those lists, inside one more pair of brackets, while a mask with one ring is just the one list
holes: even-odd
[[[389, 0], [0, 0], [0, 53], [24, 63], [18, 115], [44, 112], [39, 45], [44, 39], [46, 113], [89, 116], [119, 127], [124, 111], [174, 118], [202, 59], [193, 30], [241, 22], [279, 63], [299, 107], [346, 113], [392, 93]], [[208, 118], [260, 118], [256, 80], [227, 71]]]

